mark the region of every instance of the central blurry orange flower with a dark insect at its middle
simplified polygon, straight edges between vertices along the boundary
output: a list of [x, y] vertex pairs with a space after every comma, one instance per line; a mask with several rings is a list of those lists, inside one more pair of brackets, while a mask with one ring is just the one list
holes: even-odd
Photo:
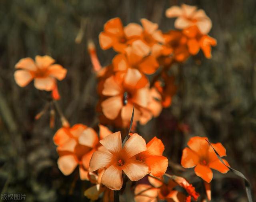
[[121, 113], [123, 122], [130, 122], [133, 104], [135, 103], [134, 121], [139, 120], [138, 106], [146, 107], [149, 102], [148, 80], [136, 69], [127, 73], [110, 76], [104, 82], [102, 94], [108, 96], [102, 103], [102, 112], [110, 120]]

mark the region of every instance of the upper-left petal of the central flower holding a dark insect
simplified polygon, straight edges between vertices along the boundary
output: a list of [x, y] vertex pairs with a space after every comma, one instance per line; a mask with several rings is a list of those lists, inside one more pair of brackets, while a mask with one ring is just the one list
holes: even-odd
[[121, 93], [121, 87], [116, 82], [114, 76], [110, 76], [104, 82], [102, 94], [106, 96], [116, 96]]

